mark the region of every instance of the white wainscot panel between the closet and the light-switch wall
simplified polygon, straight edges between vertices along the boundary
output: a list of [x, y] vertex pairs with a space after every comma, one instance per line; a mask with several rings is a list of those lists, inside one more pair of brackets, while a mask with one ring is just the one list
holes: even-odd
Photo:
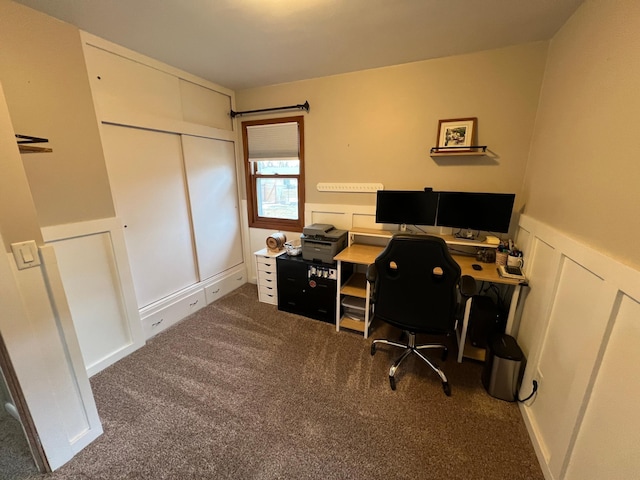
[[45, 227], [42, 234], [56, 251], [89, 376], [144, 345], [118, 219]]

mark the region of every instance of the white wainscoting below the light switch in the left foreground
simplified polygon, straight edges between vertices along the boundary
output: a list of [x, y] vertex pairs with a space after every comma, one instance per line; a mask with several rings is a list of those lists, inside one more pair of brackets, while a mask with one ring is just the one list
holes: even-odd
[[[53, 248], [42, 265], [17, 270], [0, 260], [0, 330], [50, 467], [102, 434]], [[43, 376], [43, 372], [46, 375]]]

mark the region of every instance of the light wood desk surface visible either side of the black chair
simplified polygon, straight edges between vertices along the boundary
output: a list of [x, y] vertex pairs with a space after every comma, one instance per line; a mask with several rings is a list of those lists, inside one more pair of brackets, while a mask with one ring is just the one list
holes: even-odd
[[[384, 247], [379, 245], [353, 244], [338, 253], [334, 260], [355, 263], [358, 265], [370, 265], [382, 252]], [[501, 277], [495, 263], [478, 262], [474, 257], [466, 255], [452, 255], [453, 259], [460, 265], [462, 275], [470, 275], [476, 280], [492, 283], [502, 283], [505, 285], [518, 285], [520, 280]], [[482, 270], [474, 270], [471, 265], [477, 263], [482, 265]]]

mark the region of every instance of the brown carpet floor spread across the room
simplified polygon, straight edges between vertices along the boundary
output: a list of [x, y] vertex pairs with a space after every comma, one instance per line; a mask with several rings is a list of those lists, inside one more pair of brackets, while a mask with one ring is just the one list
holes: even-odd
[[[397, 333], [378, 326], [373, 337]], [[58, 479], [543, 479], [482, 366], [417, 359], [259, 303], [247, 284], [91, 379], [104, 435]], [[27, 475], [22, 478], [43, 478]]]

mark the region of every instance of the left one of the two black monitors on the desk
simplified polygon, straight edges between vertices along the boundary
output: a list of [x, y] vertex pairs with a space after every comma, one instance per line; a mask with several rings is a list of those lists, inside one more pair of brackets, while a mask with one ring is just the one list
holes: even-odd
[[376, 223], [435, 225], [438, 194], [424, 190], [378, 190]]

